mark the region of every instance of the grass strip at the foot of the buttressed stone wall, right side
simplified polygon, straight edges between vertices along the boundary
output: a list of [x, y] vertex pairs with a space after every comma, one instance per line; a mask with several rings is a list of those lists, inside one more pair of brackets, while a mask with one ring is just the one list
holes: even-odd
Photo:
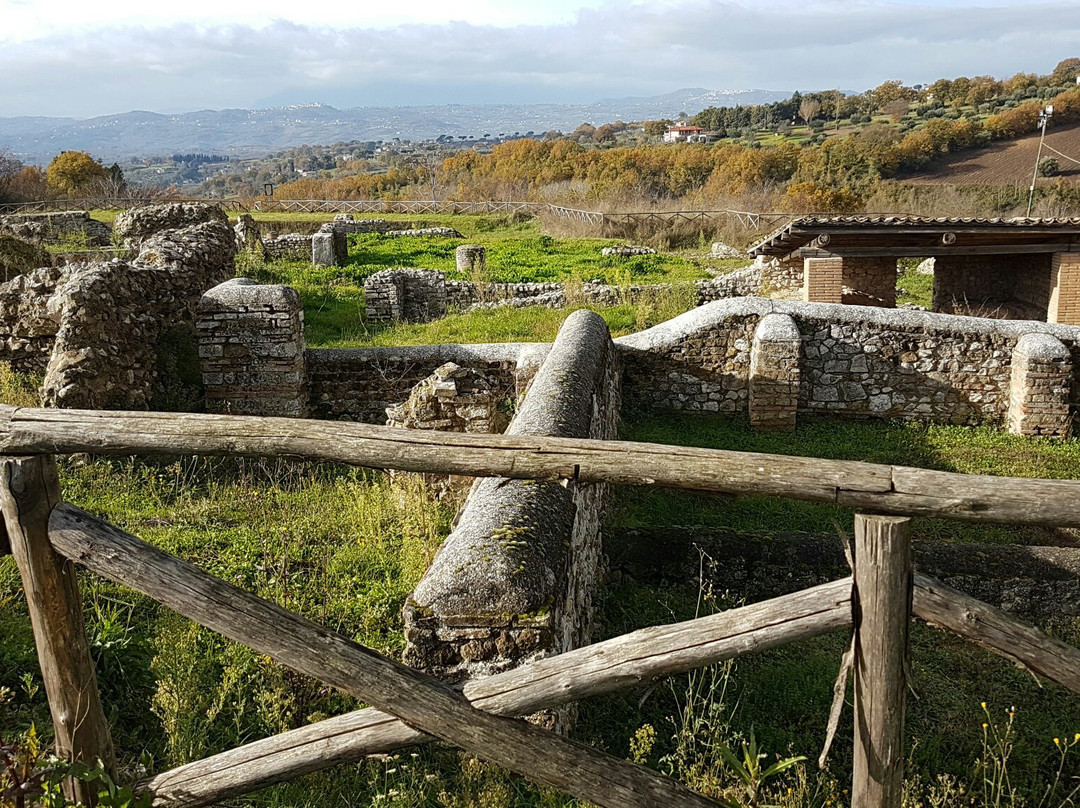
[[[794, 432], [761, 433], [742, 418], [632, 414], [623, 437], [777, 455], [915, 466], [967, 474], [1080, 480], [1080, 439], [1052, 441], [1007, 434], [990, 427], [914, 421], [841, 421], [800, 417]], [[705, 526], [755, 534], [849, 533], [849, 509], [768, 497], [728, 497], [673, 490], [617, 489], [616, 527]], [[1044, 528], [917, 519], [916, 537], [939, 541], [1041, 543]], [[1058, 533], [1058, 531], [1053, 531]], [[1063, 534], [1065, 535], [1065, 534]]]

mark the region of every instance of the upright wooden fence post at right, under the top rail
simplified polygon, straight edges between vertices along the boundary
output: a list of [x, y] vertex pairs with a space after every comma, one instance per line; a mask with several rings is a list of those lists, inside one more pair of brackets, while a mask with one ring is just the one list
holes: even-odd
[[910, 520], [856, 513], [851, 808], [900, 808], [912, 576]]

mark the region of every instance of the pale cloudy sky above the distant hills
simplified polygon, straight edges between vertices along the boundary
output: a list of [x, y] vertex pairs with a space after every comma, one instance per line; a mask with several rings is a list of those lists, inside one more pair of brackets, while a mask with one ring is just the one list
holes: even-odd
[[0, 117], [859, 92], [1070, 56], [1077, 0], [0, 0]]

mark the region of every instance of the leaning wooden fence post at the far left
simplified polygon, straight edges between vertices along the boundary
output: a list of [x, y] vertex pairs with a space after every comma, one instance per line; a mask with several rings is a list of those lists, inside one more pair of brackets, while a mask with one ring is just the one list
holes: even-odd
[[[49, 516], [59, 501], [52, 456], [3, 460], [0, 507], [30, 610], [56, 731], [56, 754], [90, 766], [100, 759], [109, 775], [114, 775], [112, 737], [97, 691], [76, 568], [49, 542]], [[69, 779], [64, 793], [90, 805], [96, 789], [93, 783]]]

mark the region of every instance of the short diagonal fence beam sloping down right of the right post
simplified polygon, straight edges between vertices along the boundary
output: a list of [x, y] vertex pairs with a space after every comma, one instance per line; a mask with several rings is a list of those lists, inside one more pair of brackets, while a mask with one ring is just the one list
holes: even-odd
[[1080, 695], [1080, 649], [1001, 609], [916, 574], [914, 614]]

